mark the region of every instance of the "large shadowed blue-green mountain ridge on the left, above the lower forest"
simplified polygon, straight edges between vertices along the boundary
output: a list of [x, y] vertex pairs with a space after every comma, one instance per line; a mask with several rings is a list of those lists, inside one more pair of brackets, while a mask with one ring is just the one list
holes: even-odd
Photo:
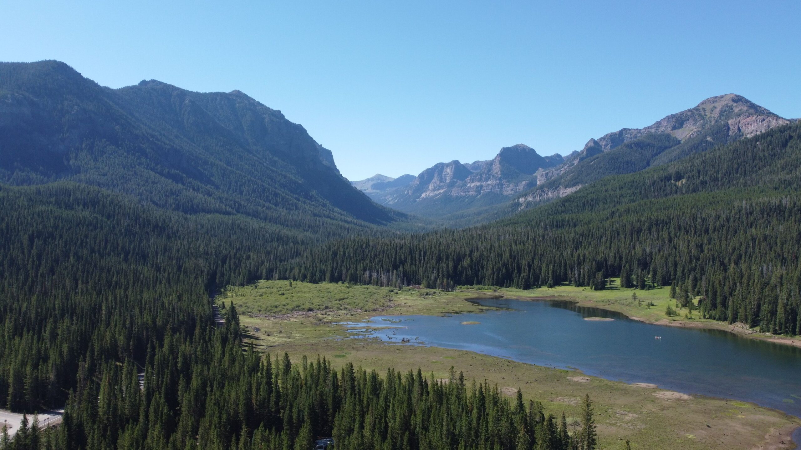
[[239, 90], [110, 89], [62, 62], [3, 62], [0, 105], [0, 183], [69, 180], [293, 230], [405, 219], [353, 188], [304, 127]]

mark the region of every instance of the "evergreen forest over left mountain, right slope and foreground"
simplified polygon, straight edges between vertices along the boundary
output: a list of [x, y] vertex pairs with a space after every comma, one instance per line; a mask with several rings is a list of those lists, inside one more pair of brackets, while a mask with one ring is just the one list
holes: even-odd
[[[0, 101], [0, 408], [30, 413], [2, 450], [288, 450], [316, 436], [337, 450], [595, 448], [589, 398], [569, 429], [456, 373], [262, 356], [232, 305], [222, 326], [211, 309], [257, 279], [603, 289], [619, 276], [691, 296], [706, 318], [801, 334], [799, 123], [691, 151], [652, 136], [626, 148], [688, 156], [431, 231], [239, 91], [111, 90], [62, 63], [2, 63]], [[55, 408], [62, 424], [42, 428], [33, 414]]]

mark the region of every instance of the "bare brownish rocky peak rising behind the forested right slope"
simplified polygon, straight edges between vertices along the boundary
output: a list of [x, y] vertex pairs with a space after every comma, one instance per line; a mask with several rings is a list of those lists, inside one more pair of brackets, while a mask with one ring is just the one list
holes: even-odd
[[791, 123], [741, 95], [706, 98], [698, 106], [645, 128], [623, 128], [590, 139], [565, 163], [542, 171], [537, 187], [520, 195], [520, 207], [569, 195], [608, 175], [642, 171]]

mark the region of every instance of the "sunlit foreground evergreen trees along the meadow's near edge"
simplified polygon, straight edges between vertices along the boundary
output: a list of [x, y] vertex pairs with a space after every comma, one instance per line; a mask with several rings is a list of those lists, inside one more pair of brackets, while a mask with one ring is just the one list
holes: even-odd
[[436, 380], [419, 369], [336, 370], [319, 357], [293, 364], [285, 353], [243, 352], [232, 304], [225, 315], [223, 327], [198, 323], [191, 335], [149, 344], [143, 371], [130, 359], [82, 365], [62, 424], [26, 424], [14, 440], [0, 440], [0, 450], [309, 450], [317, 436], [344, 450], [595, 448], [589, 396], [569, 425], [564, 413], [526, 404], [520, 391], [503, 396], [453, 368]]

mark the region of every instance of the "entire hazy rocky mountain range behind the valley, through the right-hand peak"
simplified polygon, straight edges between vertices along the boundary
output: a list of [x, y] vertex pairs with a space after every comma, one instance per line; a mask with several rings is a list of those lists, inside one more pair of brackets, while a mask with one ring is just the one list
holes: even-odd
[[[523, 144], [494, 159], [438, 163], [417, 177], [352, 182], [377, 203], [437, 219], [496, 219], [569, 195], [607, 175], [642, 171], [791, 123], [736, 94], [707, 98], [645, 128], [590, 139], [581, 151], [542, 157]], [[472, 217], [472, 219], [471, 219]]]

